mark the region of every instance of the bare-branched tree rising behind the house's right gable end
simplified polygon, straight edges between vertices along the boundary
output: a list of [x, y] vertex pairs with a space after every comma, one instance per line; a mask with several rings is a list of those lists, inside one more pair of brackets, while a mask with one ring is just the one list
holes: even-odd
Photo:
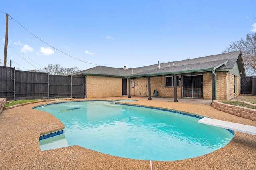
[[248, 33], [246, 39], [229, 44], [225, 49], [225, 53], [231, 51], [242, 51], [244, 68], [248, 75], [256, 75], [256, 33]]

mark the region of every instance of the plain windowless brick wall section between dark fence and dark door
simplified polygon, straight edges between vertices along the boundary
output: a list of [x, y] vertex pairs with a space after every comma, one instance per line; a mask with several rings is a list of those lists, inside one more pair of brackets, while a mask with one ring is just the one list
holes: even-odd
[[122, 78], [86, 76], [86, 97], [104, 98], [122, 96]]

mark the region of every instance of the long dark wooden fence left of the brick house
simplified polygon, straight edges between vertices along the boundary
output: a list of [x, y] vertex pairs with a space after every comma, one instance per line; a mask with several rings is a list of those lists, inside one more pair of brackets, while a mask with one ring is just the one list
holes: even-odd
[[0, 98], [86, 98], [85, 78], [19, 71], [12, 67], [0, 66]]

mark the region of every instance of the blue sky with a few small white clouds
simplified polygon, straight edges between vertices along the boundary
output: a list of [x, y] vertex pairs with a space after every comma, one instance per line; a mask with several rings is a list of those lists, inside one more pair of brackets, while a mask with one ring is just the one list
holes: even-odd
[[39, 70], [136, 68], [223, 53], [256, 32], [255, 0], [5, 0], [0, 59]]

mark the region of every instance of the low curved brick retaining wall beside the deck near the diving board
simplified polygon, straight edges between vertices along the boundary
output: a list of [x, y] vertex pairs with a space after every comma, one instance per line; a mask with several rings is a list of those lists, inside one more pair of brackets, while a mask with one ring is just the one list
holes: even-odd
[[245, 119], [256, 121], [256, 109], [224, 104], [224, 103], [218, 102], [218, 100], [212, 101], [212, 107], [232, 115], [236, 115], [239, 117], [244, 117]]

